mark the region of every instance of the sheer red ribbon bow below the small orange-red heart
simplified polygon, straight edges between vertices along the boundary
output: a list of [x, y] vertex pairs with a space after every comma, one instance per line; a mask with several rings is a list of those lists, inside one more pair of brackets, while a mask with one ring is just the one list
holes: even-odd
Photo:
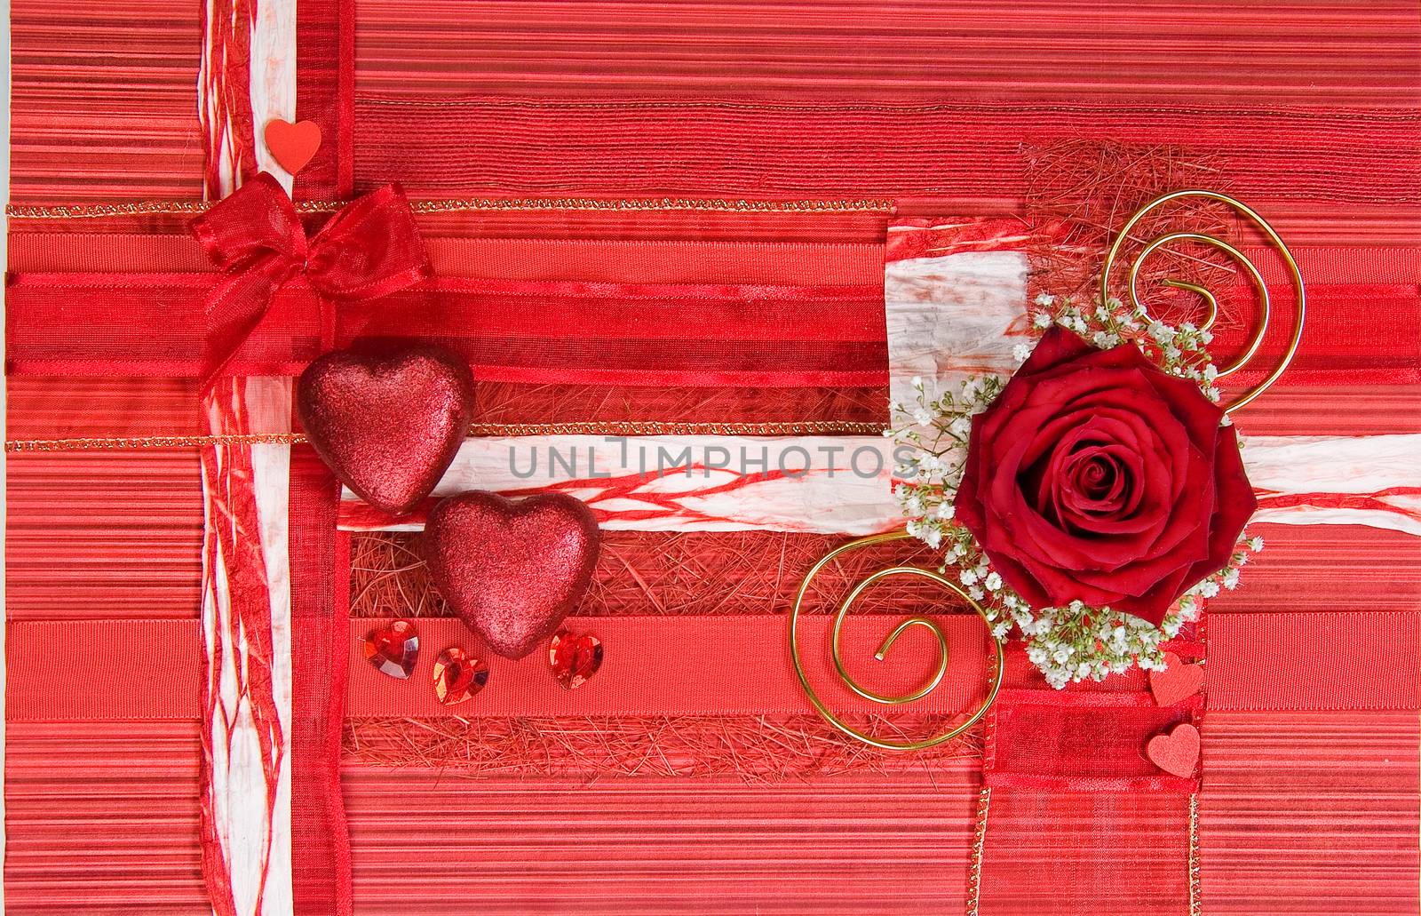
[[297, 276], [321, 299], [321, 346], [335, 337], [334, 304], [379, 299], [433, 276], [409, 201], [385, 185], [348, 203], [310, 240], [291, 199], [261, 172], [192, 220], [226, 277], [207, 294], [202, 384], [207, 387]]

